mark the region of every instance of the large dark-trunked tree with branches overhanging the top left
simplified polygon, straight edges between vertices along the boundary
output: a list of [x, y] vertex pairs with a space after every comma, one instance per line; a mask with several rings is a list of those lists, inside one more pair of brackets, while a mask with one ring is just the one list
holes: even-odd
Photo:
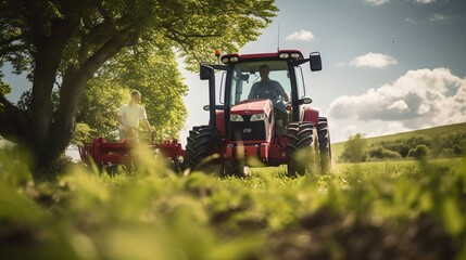
[[0, 134], [47, 166], [70, 143], [87, 82], [117, 53], [174, 48], [194, 69], [215, 48], [254, 40], [276, 12], [273, 0], [3, 0], [0, 61], [29, 72], [33, 89], [29, 112], [0, 95]]

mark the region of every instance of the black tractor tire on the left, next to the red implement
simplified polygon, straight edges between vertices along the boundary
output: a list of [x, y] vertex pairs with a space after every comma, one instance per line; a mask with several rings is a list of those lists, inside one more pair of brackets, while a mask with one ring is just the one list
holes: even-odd
[[[212, 126], [193, 127], [189, 131], [184, 168], [191, 171], [212, 172], [212, 167], [223, 154], [223, 141], [218, 129]], [[216, 158], [215, 158], [216, 157]]]

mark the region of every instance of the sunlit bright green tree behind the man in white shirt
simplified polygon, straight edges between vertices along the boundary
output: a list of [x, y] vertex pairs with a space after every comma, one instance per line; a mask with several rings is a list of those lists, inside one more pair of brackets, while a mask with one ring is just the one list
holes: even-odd
[[[135, 52], [138, 54], [134, 55]], [[171, 49], [148, 47], [143, 51], [122, 51], [115, 61], [118, 66], [104, 65], [88, 82], [76, 121], [87, 123], [93, 136], [116, 139], [115, 115], [136, 89], [142, 93], [154, 138], [177, 138], [187, 116], [182, 96], [188, 89], [177, 70], [175, 53]]]

